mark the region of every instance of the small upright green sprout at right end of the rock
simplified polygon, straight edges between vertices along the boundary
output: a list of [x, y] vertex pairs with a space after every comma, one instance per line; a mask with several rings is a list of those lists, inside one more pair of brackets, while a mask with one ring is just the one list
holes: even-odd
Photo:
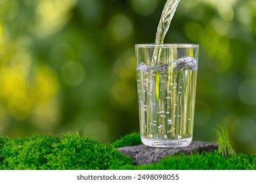
[[218, 129], [213, 130], [216, 131], [217, 137], [219, 139], [219, 152], [221, 152], [223, 156], [236, 154], [236, 152], [231, 147], [230, 142], [228, 141], [228, 131], [226, 130], [226, 128], [221, 127], [220, 125], [218, 126], [221, 128], [221, 131], [219, 131]]

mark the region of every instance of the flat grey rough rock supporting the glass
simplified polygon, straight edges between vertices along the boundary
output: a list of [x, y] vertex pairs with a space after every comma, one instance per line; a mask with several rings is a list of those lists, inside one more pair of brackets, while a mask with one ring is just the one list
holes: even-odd
[[182, 148], [152, 148], [145, 145], [127, 146], [118, 148], [121, 153], [130, 156], [135, 160], [137, 165], [148, 164], [160, 161], [169, 155], [178, 153], [190, 154], [197, 151], [199, 154], [202, 152], [213, 152], [217, 150], [219, 145], [211, 142], [192, 142], [189, 146]]

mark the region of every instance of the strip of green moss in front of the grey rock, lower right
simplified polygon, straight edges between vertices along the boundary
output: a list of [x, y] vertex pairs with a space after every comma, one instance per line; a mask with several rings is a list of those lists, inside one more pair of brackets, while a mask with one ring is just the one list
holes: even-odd
[[133, 170], [255, 170], [256, 155], [238, 154], [224, 157], [220, 152], [204, 154], [191, 154], [185, 156], [169, 156], [158, 163], [139, 165], [137, 167], [126, 165], [119, 169]]

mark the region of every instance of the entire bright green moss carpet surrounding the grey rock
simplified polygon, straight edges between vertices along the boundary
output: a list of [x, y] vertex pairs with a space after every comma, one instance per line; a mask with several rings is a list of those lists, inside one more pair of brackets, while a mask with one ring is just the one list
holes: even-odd
[[185, 156], [178, 154], [158, 163], [134, 166], [133, 159], [117, 147], [141, 144], [139, 133], [121, 137], [113, 144], [79, 135], [35, 135], [24, 139], [0, 137], [0, 169], [256, 169], [256, 155], [222, 156], [205, 152]]

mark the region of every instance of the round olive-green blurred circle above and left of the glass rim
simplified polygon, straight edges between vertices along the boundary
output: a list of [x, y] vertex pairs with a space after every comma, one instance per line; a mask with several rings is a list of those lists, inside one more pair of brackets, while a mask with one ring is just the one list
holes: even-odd
[[119, 14], [108, 22], [108, 33], [116, 41], [123, 41], [133, 33], [133, 24], [127, 16]]

